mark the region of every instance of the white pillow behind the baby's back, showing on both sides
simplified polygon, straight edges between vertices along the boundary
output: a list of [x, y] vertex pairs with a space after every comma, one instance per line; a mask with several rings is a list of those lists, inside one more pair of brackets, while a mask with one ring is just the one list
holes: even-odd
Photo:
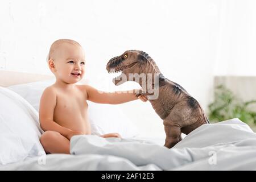
[[[54, 80], [38, 81], [9, 86], [8, 88], [20, 94], [36, 110], [39, 110], [39, 102], [43, 90], [54, 82]], [[88, 105], [88, 117], [92, 125], [92, 134], [119, 133], [123, 138], [131, 138], [138, 135], [137, 127], [126, 118], [118, 105], [95, 104], [89, 101]]]

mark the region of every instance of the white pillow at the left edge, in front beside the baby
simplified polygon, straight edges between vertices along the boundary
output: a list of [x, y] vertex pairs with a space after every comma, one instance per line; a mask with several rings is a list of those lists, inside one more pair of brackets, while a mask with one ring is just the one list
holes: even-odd
[[13, 91], [0, 87], [0, 164], [45, 154], [38, 112]]

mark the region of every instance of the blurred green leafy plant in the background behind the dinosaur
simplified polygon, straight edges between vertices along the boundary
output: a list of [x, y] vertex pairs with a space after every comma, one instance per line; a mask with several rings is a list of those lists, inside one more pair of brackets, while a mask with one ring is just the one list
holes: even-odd
[[[243, 102], [224, 85], [214, 90], [214, 101], [209, 105], [210, 122], [239, 118], [250, 126], [256, 126], [256, 100]], [[253, 109], [254, 108], [254, 109]]]

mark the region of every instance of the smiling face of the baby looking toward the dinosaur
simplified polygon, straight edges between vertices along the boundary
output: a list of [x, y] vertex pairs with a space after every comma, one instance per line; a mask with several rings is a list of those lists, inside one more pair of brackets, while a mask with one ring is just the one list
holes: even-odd
[[84, 77], [85, 55], [80, 46], [63, 43], [54, 56], [53, 73], [57, 79], [68, 84], [75, 84]]

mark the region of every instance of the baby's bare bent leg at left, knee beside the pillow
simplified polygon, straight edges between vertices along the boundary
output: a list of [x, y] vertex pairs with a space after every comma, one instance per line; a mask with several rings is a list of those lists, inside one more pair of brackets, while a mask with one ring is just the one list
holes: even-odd
[[46, 152], [51, 154], [70, 154], [69, 140], [56, 131], [46, 131], [40, 138]]

